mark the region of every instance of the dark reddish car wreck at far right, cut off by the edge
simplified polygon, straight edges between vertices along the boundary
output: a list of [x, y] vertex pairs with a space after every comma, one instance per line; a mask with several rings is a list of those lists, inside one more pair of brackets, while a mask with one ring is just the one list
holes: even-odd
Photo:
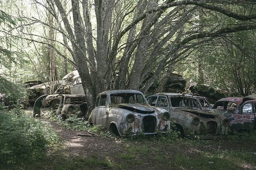
[[218, 100], [213, 108], [229, 120], [230, 130], [236, 132], [256, 129], [256, 100], [251, 97], [227, 97]]

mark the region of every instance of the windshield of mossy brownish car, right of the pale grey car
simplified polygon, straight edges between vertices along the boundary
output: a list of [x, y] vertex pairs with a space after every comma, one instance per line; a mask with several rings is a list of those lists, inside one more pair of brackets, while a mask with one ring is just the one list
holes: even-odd
[[198, 99], [183, 96], [171, 97], [173, 108], [198, 108], [201, 109]]

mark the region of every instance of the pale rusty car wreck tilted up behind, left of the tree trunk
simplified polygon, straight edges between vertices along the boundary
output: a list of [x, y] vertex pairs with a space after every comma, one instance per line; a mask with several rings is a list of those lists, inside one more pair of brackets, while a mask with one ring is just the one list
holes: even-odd
[[81, 78], [79, 77], [78, 71], [72, 71], [65, 75], [61, 79], [61, 85], [54, 92], [45, 98], [46, 106], [50, 106], [53, 110], [58, 108], [62, 94], [79, 94], [84, 95], [84, 89], [82, 86]]

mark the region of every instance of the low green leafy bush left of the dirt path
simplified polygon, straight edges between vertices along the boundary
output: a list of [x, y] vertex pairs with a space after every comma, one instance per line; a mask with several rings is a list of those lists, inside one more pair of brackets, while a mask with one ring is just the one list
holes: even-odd
[[0, 164], [37, 160], [59, 136], [49, 126], [32, 117], [0, 112]]

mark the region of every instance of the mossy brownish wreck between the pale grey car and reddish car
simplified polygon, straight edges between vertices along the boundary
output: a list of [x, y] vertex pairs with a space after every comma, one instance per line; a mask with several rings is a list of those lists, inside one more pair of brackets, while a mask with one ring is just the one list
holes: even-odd
[[169, 111], [170, 119], [175, 121], [176, 130], [182, 136], [227, 135], [227, 118], [202, 110], [200, 102], [192, 95], [159, 93], [148, 96], [147, 101], [151, 106]]

